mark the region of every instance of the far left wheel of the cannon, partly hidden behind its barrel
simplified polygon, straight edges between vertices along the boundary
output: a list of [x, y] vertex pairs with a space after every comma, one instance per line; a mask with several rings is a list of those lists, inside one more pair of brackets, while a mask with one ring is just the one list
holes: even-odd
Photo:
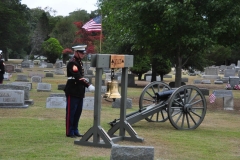
[[[171, 87], [160, 81], [154, 81], [149, 83], [140, 95], [139, 98], [139, 109], [142, 110], [152, 104], [158, 104], [157, 97], [155, 93], [170, 90]], [[163, 107], [159, 112], [145, 118], [148, 122], [165, 122], [168, 120], [168, 113], [166, 111], [166, 107]]]

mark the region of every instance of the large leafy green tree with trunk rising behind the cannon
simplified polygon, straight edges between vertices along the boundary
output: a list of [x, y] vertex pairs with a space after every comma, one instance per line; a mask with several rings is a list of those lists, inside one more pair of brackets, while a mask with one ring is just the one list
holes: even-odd
[[114, 47], [129, 43], [133, 50], [167, 55], [176, 68], [176, 87], [181, 85], [181, 70], [190, 59], [201, 57], [212, 44], [236, 44], [231, 37], [240, 42], [238, 1], [100, 2], [106, 15], [103, 19], [106, 39]]

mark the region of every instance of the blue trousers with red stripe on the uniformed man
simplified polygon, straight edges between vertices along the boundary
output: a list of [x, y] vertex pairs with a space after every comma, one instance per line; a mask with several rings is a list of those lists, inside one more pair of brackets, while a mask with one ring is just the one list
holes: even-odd
[[66, 136], [79, 133], [78, 122], [82, 114], [83, 98], [67, 96]]

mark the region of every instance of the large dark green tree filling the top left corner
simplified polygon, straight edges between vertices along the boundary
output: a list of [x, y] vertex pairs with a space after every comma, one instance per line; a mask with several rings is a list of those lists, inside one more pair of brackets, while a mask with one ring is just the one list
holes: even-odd
[[0, 1], [0, 48], [5, 61], [8, 61], [8, 56], [13, 52], [17, 55], [25, 54], [29, 34], [27, 20], [28, 8], [20, 0]]

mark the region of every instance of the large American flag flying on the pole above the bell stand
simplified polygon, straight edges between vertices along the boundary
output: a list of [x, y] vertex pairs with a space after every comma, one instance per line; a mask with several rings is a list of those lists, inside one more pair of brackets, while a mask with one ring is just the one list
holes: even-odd
[[102, 16], [97, 16], [93, 19], [91, 19], [90, 21], [88, 21], [87, 23], [85, 23], [83, 25], [82, 28], [84, 28], [86, 31], [101, 31], [102, 29]]

